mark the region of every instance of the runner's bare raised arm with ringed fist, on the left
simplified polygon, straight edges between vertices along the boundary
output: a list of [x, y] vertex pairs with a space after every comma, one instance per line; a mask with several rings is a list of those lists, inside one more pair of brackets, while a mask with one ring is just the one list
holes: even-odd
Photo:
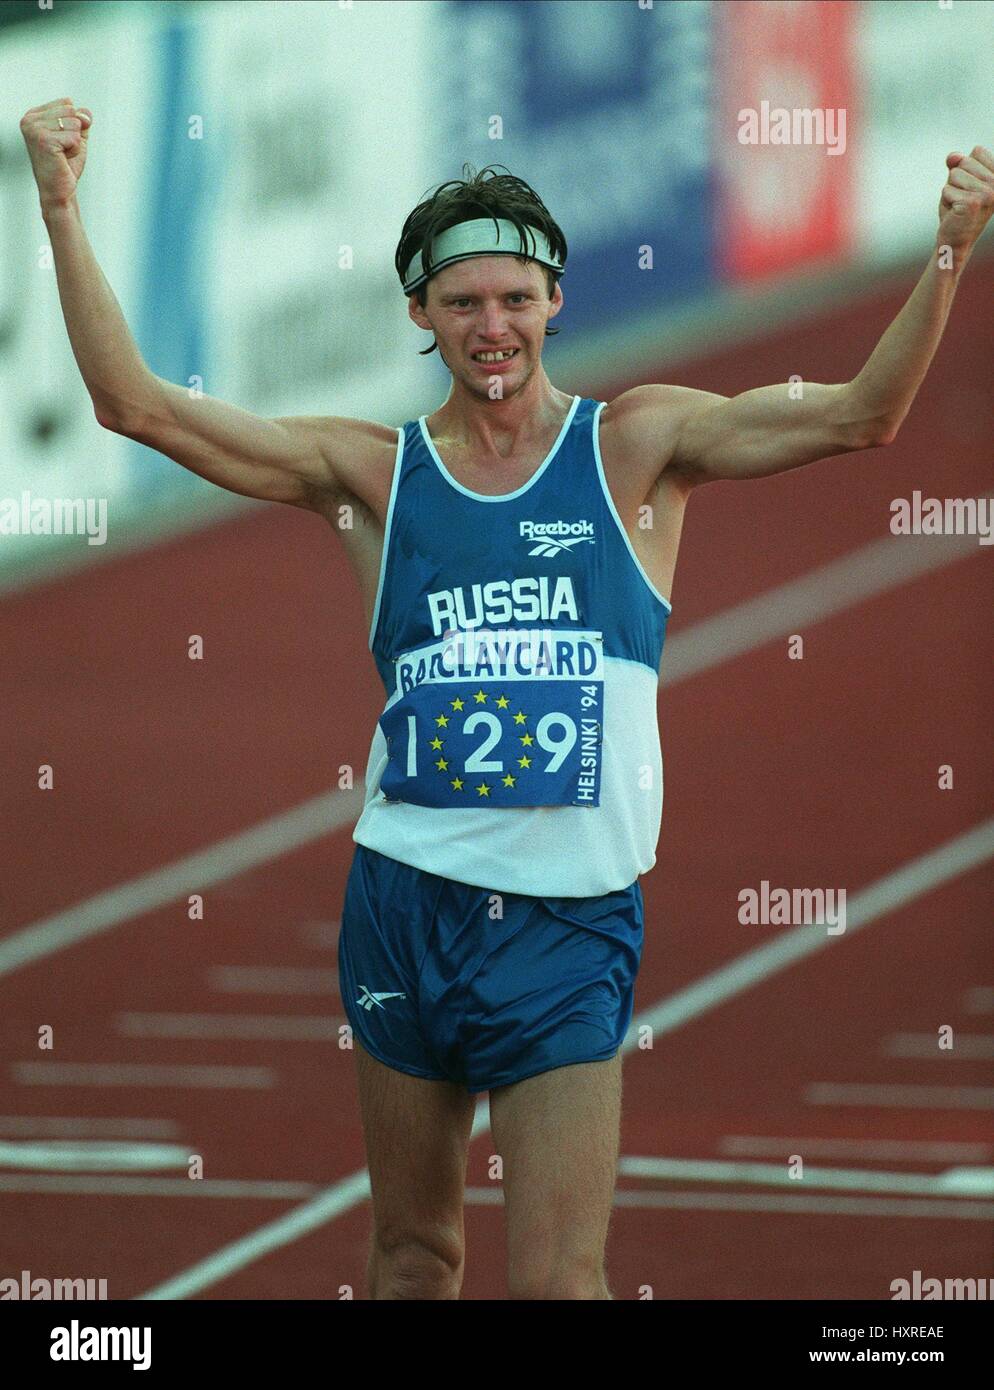
[[192, 396], [146, 366], [76, 203], [92, 120], [65, 99], [33, 107], [21, 132], [51, 240], [65, 328], [96, 418], [242, 496], [318, 507], [328, 493], [345, 491], [338, 460], [367, 436], [388, 441], [396, 431], [334, 416], [267, 420], [211, 396]]

